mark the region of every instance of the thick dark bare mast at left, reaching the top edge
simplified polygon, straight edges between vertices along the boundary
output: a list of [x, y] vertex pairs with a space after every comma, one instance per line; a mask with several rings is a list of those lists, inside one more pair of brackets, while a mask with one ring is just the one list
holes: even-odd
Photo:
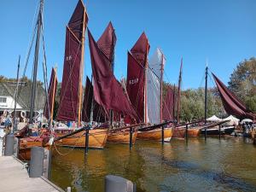
[[31, 95], [31, 105], [30, 105], [29, 134], [32, 132], [33, 113], [34, 113], [35, 98], [36, 98], [37, 76], [38, 76], [38, 52], [39, 52], [40, 34], [41, 34], [41, 27], [42, 27], [43, 8], [44, 8], [44, 0], [40, 0], [40, 8], [38, 13], [38, 21], [37, 21], [37, 27], [38, 27], [37, 41], [35, 46], [33, 74], [32, 74], [32, 95]]

